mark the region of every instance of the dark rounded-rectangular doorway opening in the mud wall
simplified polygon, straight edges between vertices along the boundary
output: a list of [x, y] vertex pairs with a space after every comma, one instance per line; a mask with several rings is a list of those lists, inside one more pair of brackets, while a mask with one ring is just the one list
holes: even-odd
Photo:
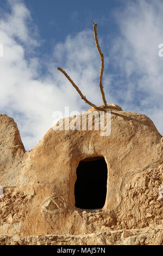
[[106, 199], [107, 174], [104, 157], [87, 158], [79, 162], [74, 186], [77, 208], [103, 208]]

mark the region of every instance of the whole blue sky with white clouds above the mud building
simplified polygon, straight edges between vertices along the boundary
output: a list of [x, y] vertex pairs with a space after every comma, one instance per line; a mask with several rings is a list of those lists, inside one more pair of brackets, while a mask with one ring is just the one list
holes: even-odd
[[102, 104], [98, 24], [108, 103], [146, 114], [163, 135], [163, 5], [161, 0], [0, 0], [0, 113], [14, 118], [26, 150], [54, 123], [53, 112]]

